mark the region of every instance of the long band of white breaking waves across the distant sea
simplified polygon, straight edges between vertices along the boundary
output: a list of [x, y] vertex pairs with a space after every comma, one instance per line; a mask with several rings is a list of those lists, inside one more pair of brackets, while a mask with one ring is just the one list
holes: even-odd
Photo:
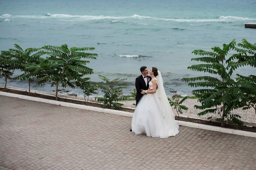
[[71, 18], [71, 19], [79, 19], [79, 20], [105, 20], [110, 19], [113, 20], [111, 23], [122, 22], [123, 19], [131, 18], [131, 19], [146, 19], [146, 20], [162, 20], [162, 21], [173, 21], [173, 22], [235, 22], [235, 21], [256, 21], [256, 18], [247, 18], [247, 17], [239, 17], [239, 16], [219, 16], [216, 18], [158, 18], [151, 16], [140, 16], [134, 14], [132, 16], [104, 16], [104, 15], [69, 15], [69, 14], [44, 14], [44, 15], [11, 15], [11, 14], [2, 14], [0, 18]]

